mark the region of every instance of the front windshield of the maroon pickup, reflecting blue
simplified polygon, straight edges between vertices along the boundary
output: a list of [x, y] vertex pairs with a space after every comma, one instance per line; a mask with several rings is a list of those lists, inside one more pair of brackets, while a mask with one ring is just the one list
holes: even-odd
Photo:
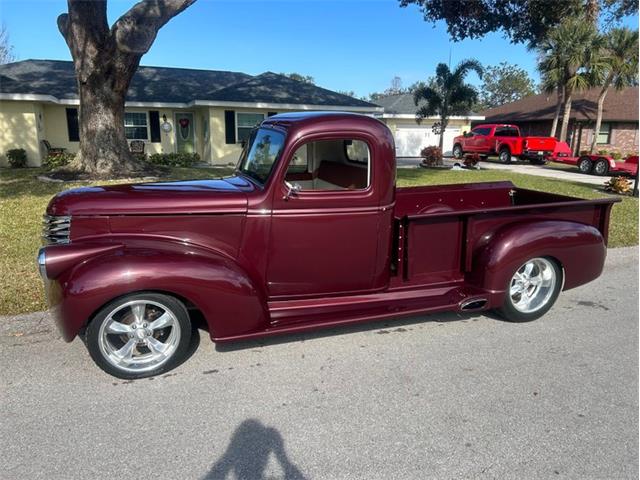
[[280, 132], [264, 128], [254, 130], [240, 157], [238, 170], [260, 184], [266, 183], [283, 145], [284, 135]]

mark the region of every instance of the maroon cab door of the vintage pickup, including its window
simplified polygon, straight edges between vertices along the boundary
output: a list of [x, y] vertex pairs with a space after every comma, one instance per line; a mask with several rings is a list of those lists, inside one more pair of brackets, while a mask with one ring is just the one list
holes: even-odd
[[305, 143], [285, 159], [295, 168], [274, 188], [266, 275], [271, 298], [372, 288], [381, 214], [370, 152], [367, 142], [341, 137]]

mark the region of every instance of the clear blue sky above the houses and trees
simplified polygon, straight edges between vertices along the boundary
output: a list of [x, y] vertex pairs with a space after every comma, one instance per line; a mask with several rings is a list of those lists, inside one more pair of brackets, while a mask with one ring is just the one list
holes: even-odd
[[[134, 3], [111, 0], [110, 21]], [[71, 58], [56, 26], [64, 11], [64, 0], [0, 0], [0, 18], [19, 59]], [[638, 17], [624, 23], [637, 28]], [[452, 64], [507, 61], [538, 79], [535, 57], [523, 45], [499, 33], [450, 42], [444, 24], [428, 24], [417, 8], [400, 8], [396, 0], [199, 0], [160, 30], [142, 64], [299, 72], [320, 86], [367, 95], [387, 88], [396, 75], [405, 86], [426, 79], [450, 52]], [[475, 74], [469, 81], [478, 83]]]

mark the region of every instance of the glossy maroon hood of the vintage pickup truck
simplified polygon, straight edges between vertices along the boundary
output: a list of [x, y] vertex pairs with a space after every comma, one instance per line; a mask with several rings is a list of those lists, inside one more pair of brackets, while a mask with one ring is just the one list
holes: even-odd
[[212, 180], [81, 187], [59, 193], [49, 215], [167, 215], [245, 213], [255, 189], [240, 176]]

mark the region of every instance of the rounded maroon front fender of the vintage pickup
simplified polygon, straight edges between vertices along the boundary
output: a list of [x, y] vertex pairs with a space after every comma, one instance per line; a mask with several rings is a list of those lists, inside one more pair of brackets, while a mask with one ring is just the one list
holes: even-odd
[[198, 308], [212, 338], [264, 329], [262, 288], [232, 259], [188, 246], [122, 248], [89, 259], [51, 280], [49, 302], [71, 341], [109, 301], [133, 292], [177, 295]]

